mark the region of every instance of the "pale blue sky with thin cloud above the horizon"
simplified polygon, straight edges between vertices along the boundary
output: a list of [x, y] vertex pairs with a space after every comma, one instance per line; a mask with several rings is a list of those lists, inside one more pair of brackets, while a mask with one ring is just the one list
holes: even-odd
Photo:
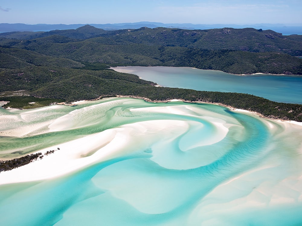
[[302, 24], [301, 0], [1, 0], [0, 23]]

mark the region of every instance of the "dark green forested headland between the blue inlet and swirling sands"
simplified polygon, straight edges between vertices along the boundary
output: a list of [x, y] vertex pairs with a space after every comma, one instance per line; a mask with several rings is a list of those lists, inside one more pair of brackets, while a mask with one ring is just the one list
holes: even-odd
[[[99, 96], [107, 95], [145, 97], [152, 101], [184, 99], [185, 101], [221, 103], [234, 108], [256, 111], [270, 118], [302, 121], [302, 105], [273, 102], [249, 94], [156, 87], [154, 86], [156, 83], [139, 79], [137, 75], [113, 70], [89, 71], [56, 68], [56, 72], [52, 72], [47, 68], [40, 70], [41, 68], [37, 67], [36, 70], [40, 70], [40, 73], [32, 74], [32, 69], [3, 71], [4, 79], [0, 81], [0, 91], [11, 90], [13, 87], [16, 90], [31, 90], [32, 96], [56, 99], [55, 101], [48, 100], [49, 102], [58, 102], [57, 99], [73, 102], [97, 99]], [[18, 76], [21, 71], [24, 74]], [[31, 80], [27, 73], [32, 75]], [[14, 76], [18, 76], [19, 79], [11, 80], [10, 78]], [[39, 81], [40, 78], [43, 82]], [[0, 97], [1, 100], [9, 100], [8, 98], [18, 99], [17, 97]], [[37, 98], [31, 102], [35, 102], [35, 100]]]

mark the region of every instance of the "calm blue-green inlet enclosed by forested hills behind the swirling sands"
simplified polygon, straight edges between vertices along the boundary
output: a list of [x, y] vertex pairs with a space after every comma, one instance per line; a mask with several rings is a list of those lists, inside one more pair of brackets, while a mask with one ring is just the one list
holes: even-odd
[[302, 104], [302, 76], [227, 74], [191, 67], [114, 67], [116, 71], [137, 74], [161, 86], [185, 89], [248, 93], [266, 99]]

